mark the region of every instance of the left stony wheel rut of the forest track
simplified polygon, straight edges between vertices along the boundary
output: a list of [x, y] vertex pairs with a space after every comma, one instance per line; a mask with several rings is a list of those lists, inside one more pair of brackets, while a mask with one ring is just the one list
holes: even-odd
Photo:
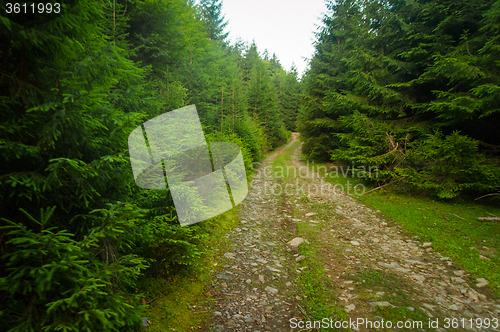
[[[282, 150], [260, 167], [270, 165]], [[280, 197], [265, 189], [273, 181], [255, 174], [240, 207], [240, 225], [228, 234], [232, 249], [224, 253], [226, 265], [215, 276], [221, 296], [214, 307], [213, 331], [289, 331], [295, 312], [290, 300], [295, 297], [289, 271], [293, 255], [283, 243]]]

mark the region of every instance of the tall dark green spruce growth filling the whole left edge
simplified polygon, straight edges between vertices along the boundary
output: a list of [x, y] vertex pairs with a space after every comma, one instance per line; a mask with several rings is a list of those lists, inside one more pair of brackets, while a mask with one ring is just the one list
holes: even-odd
[[139, 321], [119, 294], [146, 267], [126, 257], [133, 241], [120, 238], [133, 225], [131, 205], [110, 212], [119, 220], [92, 213], [131, 191], [125, 142], [142, 119], [127, 108], [142, 97], [143, 72], [123, 48], [120, 8], [78, 2], [32, 27], [1, 17], [0, 291], [10, 301], [0, 310], [12, 331], [111, 331]]

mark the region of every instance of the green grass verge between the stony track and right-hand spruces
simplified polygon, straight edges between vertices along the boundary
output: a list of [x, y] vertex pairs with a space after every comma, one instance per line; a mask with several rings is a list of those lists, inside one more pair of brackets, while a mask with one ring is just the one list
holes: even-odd
[[[343, 188], [347, 188], [347, 181], [351, 185], [362, 183], [362, 179], [341, 172], [326, 174], [325, 163], [309, 163], [309, 169], [319, 169], [326, 181], [340, 184]], [[365, 191], [370, 189], [366, 187]], [[361, 203], [381, 211], [390, 222], [401, 225], [406, 234], [417, 235], [422, 242], [432, 242], [436, 251], [471, 273], [471, 285], [476, 283], [476, 278], [485, 278], [490, 284], [481, 288], [481, 293], [500, 297], [500, 223], [477, 220], [478, 217], [499, 217], [498, 204], [439, 201], [395, 193], [388, 187], [362, 195], [354, 195], [353, 192], [351, 189], [350, 194]]]

